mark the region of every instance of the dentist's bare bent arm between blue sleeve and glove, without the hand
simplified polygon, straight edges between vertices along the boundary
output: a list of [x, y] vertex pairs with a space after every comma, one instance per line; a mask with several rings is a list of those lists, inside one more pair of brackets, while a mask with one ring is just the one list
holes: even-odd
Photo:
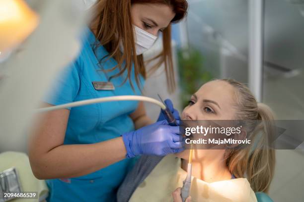
[[29, 144], [31, 168], [38, 179], [81, 176], [125, 158], [122, 137], [89, 145], [64, 145], [69, 115], [68, 109], [38, 115]]

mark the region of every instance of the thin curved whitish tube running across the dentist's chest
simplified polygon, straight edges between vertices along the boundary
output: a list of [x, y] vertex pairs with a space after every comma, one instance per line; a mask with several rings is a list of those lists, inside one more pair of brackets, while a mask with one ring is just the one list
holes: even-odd
[[57, 109], [83, 106], [83, 105], [87, 105], [87, 104], [95, 104], [95, 103], [107, 102], [107, 101], [147, 101], [147, 102], [157, 104], [163, 110], [166, 109], [166, 106], [163, 103], [161, 103], [160, 101], [157, 101], [153, 98], [149, 98], [149, 97], [145, 97], [145, 96], [112, 96], [112, 97], [96, 98], [96, 99], [89, 99], [89, 100], [84, 100], [84, 101], [75, 101], [75, 102], [60, 104], [60, 105], [56, 105], [56, 106], [44, 107], [44, 108], [37, 109], [37, 112], [47, 112], [47, 111], [53, 111], [53, 110], [57, 110]]

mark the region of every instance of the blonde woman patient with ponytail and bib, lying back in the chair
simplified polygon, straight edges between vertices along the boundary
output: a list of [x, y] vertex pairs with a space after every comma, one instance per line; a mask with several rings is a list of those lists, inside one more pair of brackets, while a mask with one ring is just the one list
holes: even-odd
[[[204, 84], [193, 94], [181, 119], [271, 121], [273, 114], [265, 104], [257, 103], [245, 85], [221, 79]], [[267, 127], [267, 124], [252, 127], [252, 135], [246, 138], [253, 144], [244, 149], [195, 150], [190, 197], [186, 201], [256, 202], [255, 192], [267, 193], [275, 165], [274, 150], [264, 144], [266, 133], [271, 130]], [[118, 192], [118, 201], [124, 201], [120, 197], [122, 193], [130, 193], [131, 202], [169, 202], [172, 198], [174, 202], [181, 202], [180, 187], [186, 177], [188, 156], [189, 150], [160, 160], [143, 156], [129, 173], [137, 179], [127, 176]], [[153, 167], [152, 171], [147, 169], [149, 173], [145, 173], [147, 167]], [[137, 186], [131, 180], [140, 183]]]

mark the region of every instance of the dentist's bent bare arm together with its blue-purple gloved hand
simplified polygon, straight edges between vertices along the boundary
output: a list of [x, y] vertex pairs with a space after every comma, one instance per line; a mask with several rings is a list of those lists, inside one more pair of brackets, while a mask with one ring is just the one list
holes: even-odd
[[[50, 105], [48, 105], [50, 106]], [[29, 144], [29, 158], [38, 179], [86, 175], [127, 157], [180, 152], [179, 128], [156, 122], [108, 141], [64, 145], [70, 110], [40, 114]]]

